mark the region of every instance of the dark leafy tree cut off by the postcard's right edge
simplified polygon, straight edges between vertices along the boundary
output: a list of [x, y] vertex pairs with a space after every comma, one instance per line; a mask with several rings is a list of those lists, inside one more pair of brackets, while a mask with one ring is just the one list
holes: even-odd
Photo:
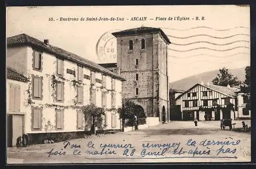
[[250, 109], [250, 91], [251, 91], [251, 84], [250, 84], [250, 66], [245, 67], [245, 80], [243, 84], [240, 86], [240, 89], [243, 93], [248, 94], [248, 103], [246, 104], [246, 108]]

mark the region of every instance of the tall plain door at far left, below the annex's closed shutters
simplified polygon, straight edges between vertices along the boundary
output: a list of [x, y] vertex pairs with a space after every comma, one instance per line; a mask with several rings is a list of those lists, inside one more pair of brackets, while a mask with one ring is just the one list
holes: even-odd
[[23, 135], [24, 115], [12, 115], [12, 146], [16, 146], [18, 136]]

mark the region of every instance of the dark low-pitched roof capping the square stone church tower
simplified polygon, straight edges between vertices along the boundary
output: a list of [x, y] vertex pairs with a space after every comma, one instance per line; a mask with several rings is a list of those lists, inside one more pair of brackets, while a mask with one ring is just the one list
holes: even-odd
[[114, 32], [112, 35], [115, 37], [121, 36], [121, 35], [132, 35], [137, 33], [152, 33], [152, 32], [160, 32], [162, 37], [165, 39], [165, 41], [170, 44], [170, 40], [167, 37], [167, 35], [160, 29], [160, 28], [151, 28], [151, 27], [139, 27], [139, 28], [133, 28], [133, 29], [127, 29], [119, 32]]

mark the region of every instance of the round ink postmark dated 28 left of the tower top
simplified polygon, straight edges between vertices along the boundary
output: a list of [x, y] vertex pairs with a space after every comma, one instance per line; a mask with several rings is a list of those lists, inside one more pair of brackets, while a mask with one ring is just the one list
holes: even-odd
[[101, 62], [116, 62], [117, 42], [113, 32], [120, 30], [111, 30], [102, 34], [96, 44], [96, 54]]

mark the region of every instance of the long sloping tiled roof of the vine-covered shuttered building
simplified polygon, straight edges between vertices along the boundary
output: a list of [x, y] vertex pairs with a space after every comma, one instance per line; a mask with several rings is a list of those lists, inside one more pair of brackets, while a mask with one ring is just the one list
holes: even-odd
[[16, 36], [8, 37], [7, 38], [7, 46], [11, 45], [21, 45], [21, 44], [26, 44], [26, 45], [31, 45], [32, 47], [40, 47], [40, 49], [52, 53], [54, 55], [61, 56], [63, 58], [66, 58], [68, 60], [77, 62], [79, 64], [82, 64], [84, 66], [87, 66], [89, 68], [92, 68], [94, 70], [100, 71], [102, 73], [108, 74], [114, 78], [120, 79], [121, 81], [125, 81], [125, 79], [121, 78], [117, 74], [113, 73], [112, 71], [100, 66], [99, 64], [92, 62], [88, 59], [82, 58], [76, 54], [73, 54], [71, 52], [68, 52], [66, 50], [60, 49], [59, 47], [46, 44], [36, 38], [33, 38], [27, 34], [19, 34]]

